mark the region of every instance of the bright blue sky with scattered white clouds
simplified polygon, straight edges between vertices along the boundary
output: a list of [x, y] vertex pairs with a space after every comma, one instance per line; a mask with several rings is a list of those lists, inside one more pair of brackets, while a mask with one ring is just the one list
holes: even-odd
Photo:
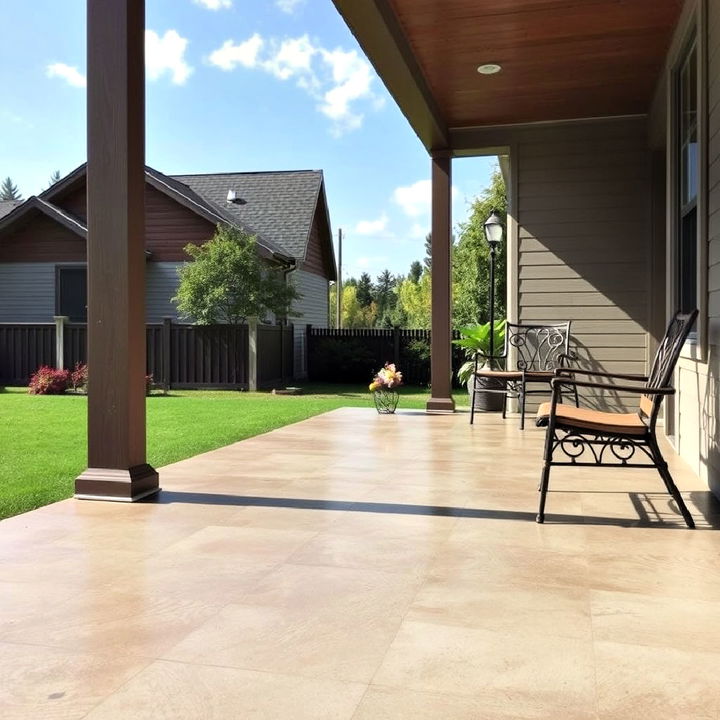
[[[85, 161], [86, 0], [2, 3], [0, 177], [24, 197]], [[147, 163], [322, 169], [343, 277], [407, 273], [430, 160], [331, 0], [146, 0]], [[495, 161], [453, 162], [453, 225]]]

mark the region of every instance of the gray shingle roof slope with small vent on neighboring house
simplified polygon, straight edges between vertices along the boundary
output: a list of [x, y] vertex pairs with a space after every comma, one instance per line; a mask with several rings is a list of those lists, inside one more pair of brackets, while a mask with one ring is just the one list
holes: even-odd
[[[173, 175], [236, 222], [272, 238], [286, 254], [303, 259], [312, 227], [321, 170]], [[234, 190], [239, 202], [227, 202]]]

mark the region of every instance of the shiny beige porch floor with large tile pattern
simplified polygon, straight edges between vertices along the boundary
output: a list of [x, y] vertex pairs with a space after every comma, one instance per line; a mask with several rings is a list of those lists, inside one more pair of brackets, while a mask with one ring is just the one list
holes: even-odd
[[[0, 523], [0, 715], [720, 717], [720, 507], [516, 419], [343, 409]], [[667, 449], [667, 446], [665, 446]]]

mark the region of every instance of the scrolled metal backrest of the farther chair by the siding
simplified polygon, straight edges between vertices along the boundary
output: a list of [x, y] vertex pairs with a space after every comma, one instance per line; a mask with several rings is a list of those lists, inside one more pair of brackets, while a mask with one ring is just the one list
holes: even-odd
[[561, 355], [570, 346], [570, 323], [553, 325], [516, 325], [505, 327], [505, 354], [515, 350], [518, 370], [551, 371], [560, 367]]

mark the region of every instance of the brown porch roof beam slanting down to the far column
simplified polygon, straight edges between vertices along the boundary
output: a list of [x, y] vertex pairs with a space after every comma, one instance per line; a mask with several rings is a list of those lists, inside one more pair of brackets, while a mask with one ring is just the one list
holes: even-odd
[[449, 148], [449, 133], [389, 0], [333, 0], [428, 152]]

